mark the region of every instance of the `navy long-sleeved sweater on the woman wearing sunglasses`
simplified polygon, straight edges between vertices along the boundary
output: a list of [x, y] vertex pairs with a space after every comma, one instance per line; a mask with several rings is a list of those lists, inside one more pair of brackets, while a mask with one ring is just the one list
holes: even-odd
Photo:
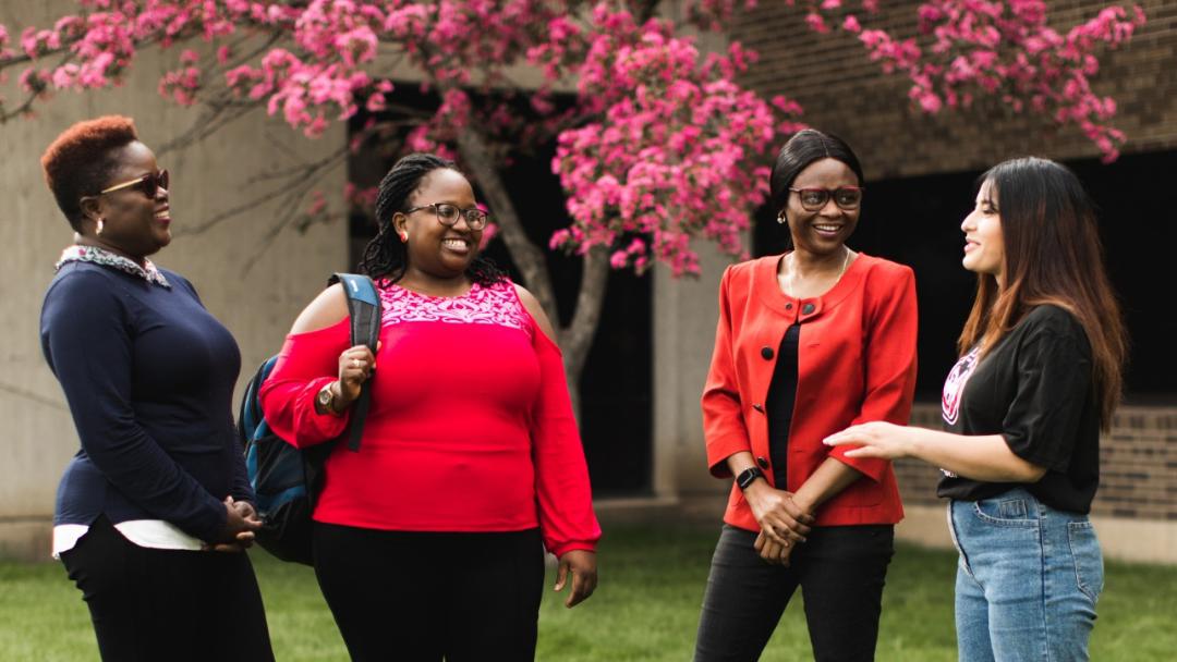
[[58, 487], [54, 524], [165, 520], [204, 541], [222, 501], [253, 501], [233, 428], [241, 355], [195, 289], [66, 262], [41, 308], [41, 349], [81, 449]]

